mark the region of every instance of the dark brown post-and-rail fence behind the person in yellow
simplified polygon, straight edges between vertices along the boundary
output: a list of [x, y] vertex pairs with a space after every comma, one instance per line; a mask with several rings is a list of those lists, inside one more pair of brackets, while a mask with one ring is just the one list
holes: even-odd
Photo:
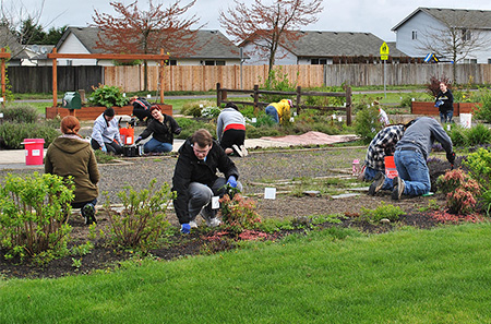
[[[296, 99], [292, 100], [295, 103], [294, 107], [297, 108], [297, 113], [300, 115], [302, 109], [318, 109], [322, 111], [345, 111], [346, 112], [346, 124], [351, 124], [351, 87], [347, 86], [344, 93], [324, 93], [324, 92], [302, 92], [301, 86], [297, 86], [296, 92], [275, 92], [275, 91], [262, 91], [259, 88], [259, 85], [254, 85], [254, 88], [251, 89], [231, 89], [231, 88], [223, 88], [219, 83], [216, 84], [216, 105], [219, 107], [221, 103], [227, 103], [228, 93], [238, 93], [238, 94], [251, 94], [253, 101], [237, 101], [235, 104], [240, 105], [252, 105], [255, 108], [266, 107], [270, 103], [260, 101], [260, 96], [262, 94], [265, 95], [282, 95], [282, 96], [296, 96]], [[302, 96], [315, 96], [315, 97], [345, 97], [346, 105], [344, 107], [327, 107], [327, 106], [307, 106], [302, 105]]]

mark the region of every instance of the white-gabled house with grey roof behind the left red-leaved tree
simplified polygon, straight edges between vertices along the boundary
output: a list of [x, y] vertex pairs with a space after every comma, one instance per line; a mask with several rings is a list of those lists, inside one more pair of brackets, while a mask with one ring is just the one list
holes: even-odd
[[[57, 44], [59, 53], [101, 53], [95, 48], [97, 27], [68, 27]], [[170, 53], [171, 65], [233, 65], [240, 64], [239, 48], [218, 31], [196, 32], [196, 43], [184, 57], [173, 58]], [[60, 65], [112, 65], [112, 60], [97, 59], [58, 59]], [[152, 62], [148, 62], [152, 64]], [[155, 64], [155, 62], [154, 62]]]

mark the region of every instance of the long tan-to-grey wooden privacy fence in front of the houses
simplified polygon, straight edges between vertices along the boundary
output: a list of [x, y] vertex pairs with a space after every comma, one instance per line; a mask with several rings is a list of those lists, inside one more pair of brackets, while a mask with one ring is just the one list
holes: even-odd
[[[383, 85], [383, 64], [277, 65], [301, 87]], [[452, 79], [453, 64], [387, 64], [386, 85], [424, 85], [431, 76]], [[217, 83], [228, 88], [253, 88], [267, 79], [267, 65], [170, 65], [164, 68], [164, 91], [212, 91]], [[491, 64], [457, 64], [456, 82], [491, 83]], [[125, 92], [143, 91], [143, 67], [105, 67], [104, 83]], [[159, 89], [157, 67], [148, 67], [148, 89]]]

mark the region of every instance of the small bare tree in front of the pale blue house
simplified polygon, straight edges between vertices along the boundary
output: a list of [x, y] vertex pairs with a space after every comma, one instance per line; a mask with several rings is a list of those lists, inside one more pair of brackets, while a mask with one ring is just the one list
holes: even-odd
[[489, 49], [489, 32], [482, 29], [474, 11], [446, 10], [439, 15], [440, 27], [422, 31], [418, 49], [451, 59], [452, 73], [456, 77], [456, 63], [464, 61], [471, 52]]

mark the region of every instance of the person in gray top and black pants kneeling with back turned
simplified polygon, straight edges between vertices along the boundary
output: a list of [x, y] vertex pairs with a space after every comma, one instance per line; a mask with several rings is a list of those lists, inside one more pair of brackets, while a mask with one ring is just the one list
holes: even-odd
[[244, 157], [248, 155], [246, 145], [246, 119], [233, 103], [227, 103], [216, 122], [216, 136], [225, 153]]

